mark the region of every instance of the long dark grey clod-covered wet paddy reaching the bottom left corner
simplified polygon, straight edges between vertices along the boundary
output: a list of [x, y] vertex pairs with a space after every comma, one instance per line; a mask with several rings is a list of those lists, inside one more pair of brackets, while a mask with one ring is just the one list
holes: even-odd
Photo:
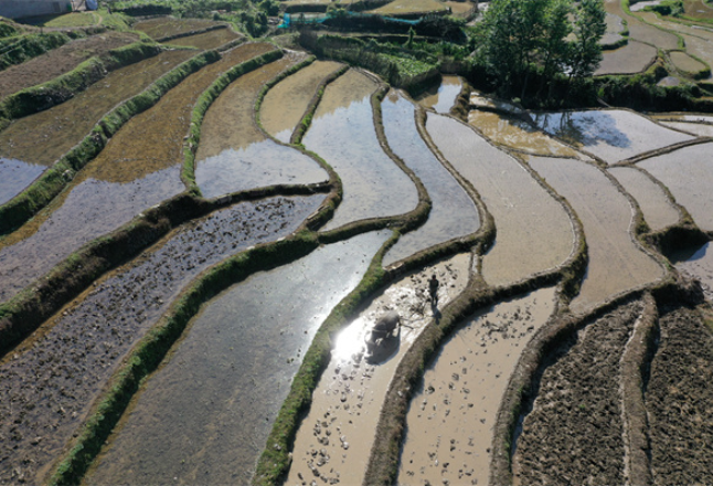
[[28, 483], [41, 484], [35, 474], [54, 461], [116, 366], [179, 292], [226, 256], [290, 233], [322, 200], [242, 203], [181, 226], [1, 361], [0, 435], [7, 440], [0, 441], [0, 483], [13, 483], [18, 467]]

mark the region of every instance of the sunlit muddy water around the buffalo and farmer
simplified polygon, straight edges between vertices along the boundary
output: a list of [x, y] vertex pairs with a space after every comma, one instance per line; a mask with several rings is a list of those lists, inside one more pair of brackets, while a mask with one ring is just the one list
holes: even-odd
[[[362, 484], [393, 373], [414, 339], [434, 323], [426, 302], [427, 281], [434, 272], [438, 275], [443, 307], [464, 290], [469, 266], [470, 256], [458, 255], [403, 278], [338, 336], [329, 366], [312, 393], [310, 411], [297, 432], [285, 484], [336, 484], [337, 479]], [[392, 342], [376, 362], [368, 362], [363, 358], [366, 332], [374, 319], [390, 309], [402, 317], [400, 335], [390, 338]]]

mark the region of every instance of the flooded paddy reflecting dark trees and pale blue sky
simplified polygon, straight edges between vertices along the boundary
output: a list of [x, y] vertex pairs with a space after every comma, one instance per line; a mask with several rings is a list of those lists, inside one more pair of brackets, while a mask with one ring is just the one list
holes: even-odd
[[693, 138], [624, 109], [541, 113], [535, 123], [608, 163]]

